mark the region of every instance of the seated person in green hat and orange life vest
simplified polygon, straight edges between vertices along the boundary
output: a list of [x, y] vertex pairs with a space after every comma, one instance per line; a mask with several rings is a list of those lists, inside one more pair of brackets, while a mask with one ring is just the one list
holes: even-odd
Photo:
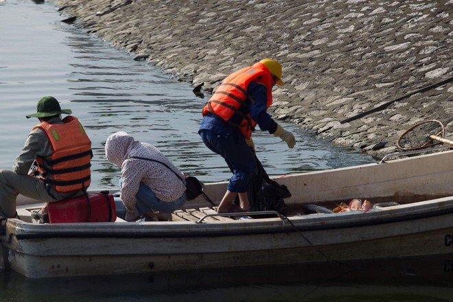
[[[40, 124], [34, 126], [16, 157], [12, 170], [0, 170], [0, 233], [7, 218], [16, 216], [19, 194], [55, 202], [84, 194], [91, 182], [91, 141], [70, 109], [60, 108], [55, 97], [38, 101]], [[61, 115], [68, 116], [62, 119]], [[48, 222], [47, 207], [32, 213]], [[3, 226], [3, 230], [2, 230]]]

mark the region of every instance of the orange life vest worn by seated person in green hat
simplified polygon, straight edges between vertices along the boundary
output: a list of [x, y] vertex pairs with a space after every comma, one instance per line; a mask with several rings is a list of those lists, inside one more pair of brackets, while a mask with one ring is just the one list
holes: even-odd
[[37, 156], [37, 176], [54, 185], [58, 192], [86, 189], [91, 183], [91, 141], [78, 119], [67, 116], [65, 124], [47, 121], [33, 129], [42, 129], [51, 143], [51, 156]]

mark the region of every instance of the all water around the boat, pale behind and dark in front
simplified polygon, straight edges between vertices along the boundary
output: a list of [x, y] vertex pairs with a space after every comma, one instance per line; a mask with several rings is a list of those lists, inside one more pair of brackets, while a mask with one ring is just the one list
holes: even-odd
[[[206, 100], [196, 97], [189, 84], [62, 19], [51, 3], [0, 0], [0, 167], [11, 167], [38, 122], [25, 115], [36, 111], [40, 97], [53, 95], [62, 108], [71, 108], [93, 141], [93, 188], [117, 187], [119, 170], [106, 161], [104, 141], [118, 130], [154, 144], [202, 181], [229, 178], [220, 156], [211, 154], [196, 133]], [[281, 124], [294, 133], [296, 148], [289, 150], [263, 132], [254, 135], [268, 174], [374, 161]], [[449, 259], [434, 262], [428, 272], [415, 269], [425, 260], [391, 272], [314, 266], [51, 281], [0, 271], [0, 301], [453, 301], [452, 272], [445, 268]]]

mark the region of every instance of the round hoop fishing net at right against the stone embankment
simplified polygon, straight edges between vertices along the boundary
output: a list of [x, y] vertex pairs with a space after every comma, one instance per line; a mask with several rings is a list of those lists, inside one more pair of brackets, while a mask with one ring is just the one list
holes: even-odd
[[419, 150], [441, 144], [440, 141], [430, 138], [430, 135], [443, 138], [445, 130], [440, 121], [431, 119], [415, 124], [399, 137], [397, 146], [401, 150]]

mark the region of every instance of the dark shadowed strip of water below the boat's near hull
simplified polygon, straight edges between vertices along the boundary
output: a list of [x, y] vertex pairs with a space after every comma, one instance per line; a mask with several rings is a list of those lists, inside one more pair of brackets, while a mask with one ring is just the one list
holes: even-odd
[[453, 301], [453, 254], [142, 275], [0, 277], [14, 301]]

